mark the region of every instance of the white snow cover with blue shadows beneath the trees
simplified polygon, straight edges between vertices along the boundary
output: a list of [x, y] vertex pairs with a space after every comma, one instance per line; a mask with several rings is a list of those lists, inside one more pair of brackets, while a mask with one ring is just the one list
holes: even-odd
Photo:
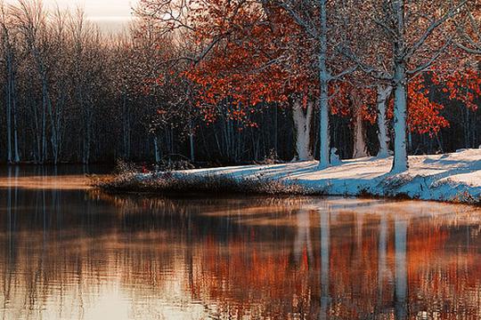
[[280, 179], [330, 196], [409, 196], [478, 203], [481, 199], [481, 149], [434, 156], [410, 156], [410, 169], [392, 175], [392, 157], [345, 160], [322, 171], [317, 162], [198, 169], [184, 173]]

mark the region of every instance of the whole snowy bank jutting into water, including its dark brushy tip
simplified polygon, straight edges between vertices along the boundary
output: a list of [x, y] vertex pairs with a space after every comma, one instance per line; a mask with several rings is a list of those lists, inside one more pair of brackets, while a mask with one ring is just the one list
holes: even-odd
[[[274, 188], [277, 192], [273, 193], [289, 194], [291, 188], [296, 194], [302, 191], [309, 195], [381, 196], [467, 204], [481, 202], [481, 149], [465, 149], [444, 155], [410, 156], [409, 171], [396, 175], [389, 173], [391, 163], [391, 157], [365, 157], [345, 160], [321, 171], [317, 170], [316, 162], [302, 162], [161, 174], [137, 173], [121, 177], [123, 182], [117, 187], [110, 181], [103, 188], [156, 191], [152, 186], [160, 185], [161, 188], [157, 188], [157, 191], [174, 188], [182, 192], [184, 184], [188, 187], [184, 188], [185, 191], [197, 190], [196, 187], [199, 187], [199, 191], [221, 192], [229, 191], [233, 184], [235, 188], [232, 191], [242, 192], [244, 184], [251, 184], [246, 191], [252, 193], [256, 192], [259, 184], [264, 186], [262, 189], [265, 191], [269, 183], [277, 183]], [[286, 192], [283, 192], [282, 185], [289, 187]]]

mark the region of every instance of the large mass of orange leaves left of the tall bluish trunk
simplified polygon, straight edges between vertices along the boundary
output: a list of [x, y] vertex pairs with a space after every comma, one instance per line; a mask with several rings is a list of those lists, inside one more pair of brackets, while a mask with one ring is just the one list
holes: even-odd
[[184, 73], [197, 85], [199, 107], [229, 100], [252, 109], [261, 102], [285, 102], [292, 93], [314, 96], [316, 75], [305, 40], [285, 12], [274, 7], [265, 12], [257, 1], [204, 0], [190, 14], [196, 43], [220, 39]]

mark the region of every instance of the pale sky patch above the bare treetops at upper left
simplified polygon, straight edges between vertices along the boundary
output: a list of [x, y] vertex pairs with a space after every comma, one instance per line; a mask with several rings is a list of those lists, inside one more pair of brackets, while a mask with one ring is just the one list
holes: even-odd
[[[131, 19], [132, 5], [138, 0], [43, 0], [45, 7], [59, 4], [61, 8], [83, 7], [86, 16], [103, 30], [114, 31], [126, 26]], [[15, 4], [16, 0], [7, 0]]]

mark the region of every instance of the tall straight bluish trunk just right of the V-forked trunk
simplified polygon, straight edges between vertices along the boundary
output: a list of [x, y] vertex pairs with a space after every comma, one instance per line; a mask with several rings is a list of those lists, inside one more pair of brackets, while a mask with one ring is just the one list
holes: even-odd
[[329, 94], [328, 84], [330, 75], [327, 69], [327, 12], [326, 0], [319, 0], [319, 10], [321, 14], [321, 32], [319, 36], [320, 49], [319, 59], [319, 169], [330, 166], [330, 134], [329, 134]]

